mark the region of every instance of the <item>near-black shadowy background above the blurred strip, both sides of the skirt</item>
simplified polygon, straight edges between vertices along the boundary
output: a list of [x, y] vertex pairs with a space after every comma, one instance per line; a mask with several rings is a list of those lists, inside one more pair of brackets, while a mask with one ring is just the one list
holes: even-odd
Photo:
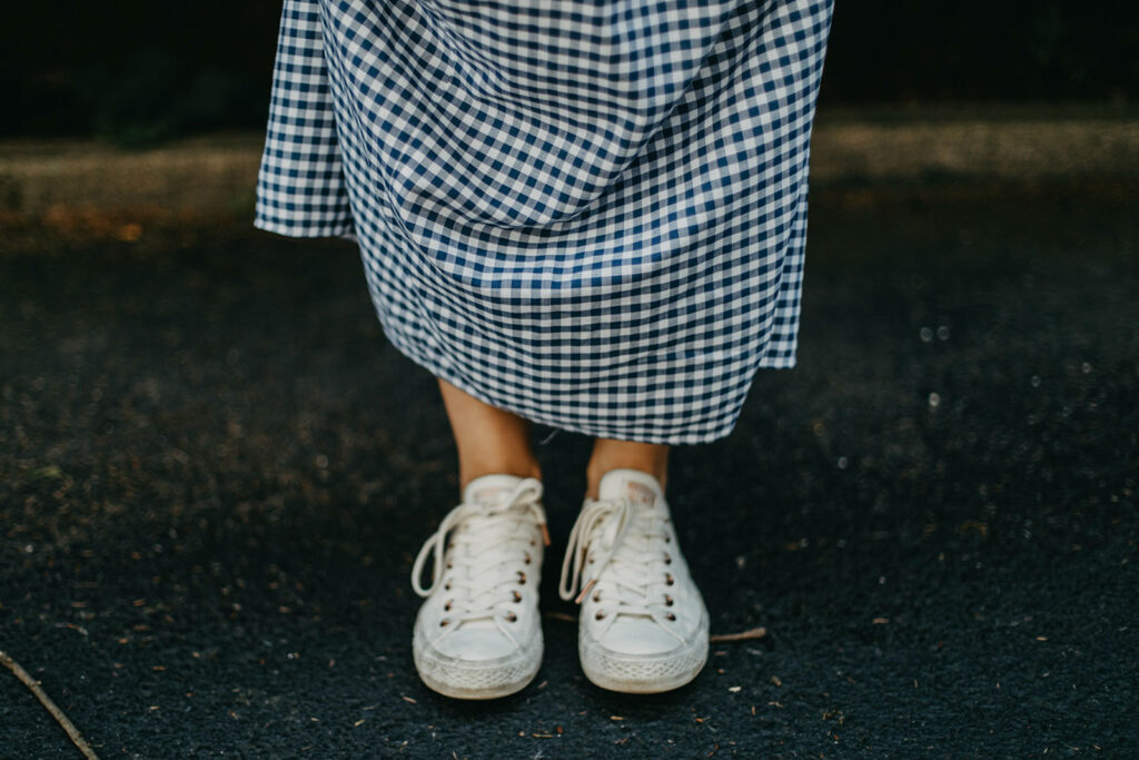
[[[9, 3], [0, 137], [260, 129], [279, 13], [276, 0]], [[1122, 0], [838, 0], [822, 105], [1125, 104], [1137, 50], [1137, 3]]]

